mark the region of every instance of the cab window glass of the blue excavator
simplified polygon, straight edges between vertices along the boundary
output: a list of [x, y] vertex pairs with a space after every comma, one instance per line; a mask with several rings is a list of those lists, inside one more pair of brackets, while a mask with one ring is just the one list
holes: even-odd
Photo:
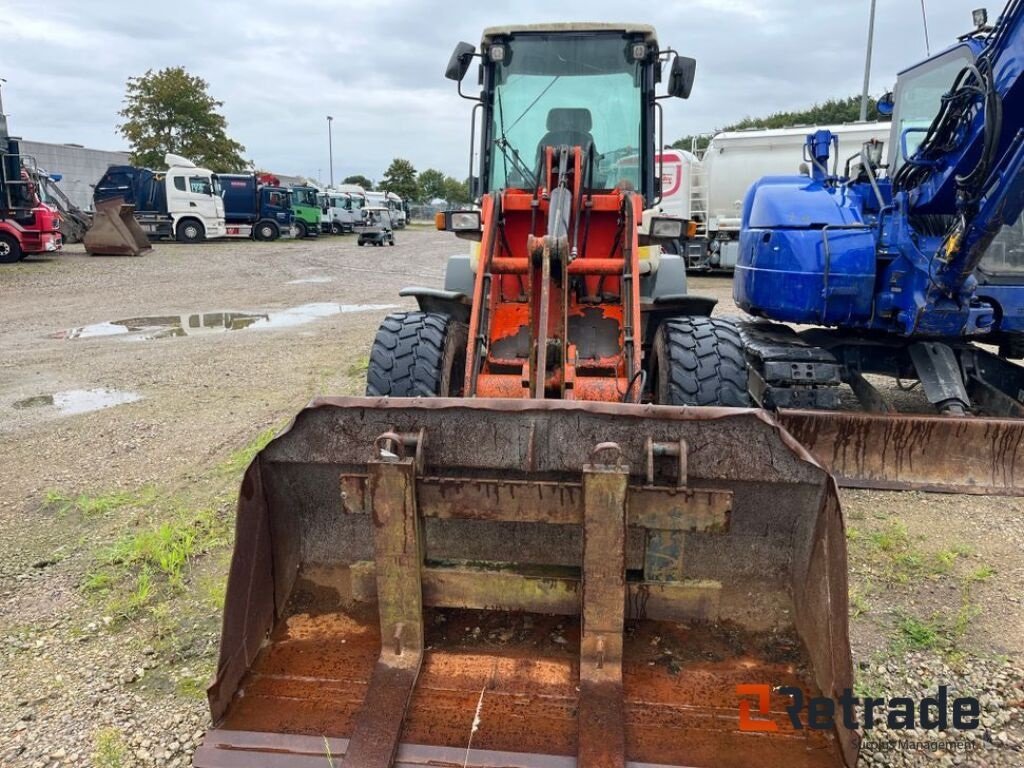
[[912, 157], [925, 138], [925, 132], [919, 129], [931, 126], [939, 114], [942, 97], [949, 92], [961, 70], [972, 59], [970, 49], [965, 46], [900, 75], [896, 82], [893, 133], [889, 141], [890, 175], [906, 160], [901, 150], [903, 132], [913, 129], [906, 134], [906, 155]]

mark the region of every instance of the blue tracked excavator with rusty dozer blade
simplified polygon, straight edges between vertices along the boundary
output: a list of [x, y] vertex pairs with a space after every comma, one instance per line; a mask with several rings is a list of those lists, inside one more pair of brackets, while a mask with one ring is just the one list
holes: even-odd
[[847, 484], [1024, 492], [1024, 0], [974, 20], [881, 99], [888, 158], [817, 131], [803, 173], [752, 186], [757, 321], [665, 327], [693, 364], [674, 401], [776, 410]]

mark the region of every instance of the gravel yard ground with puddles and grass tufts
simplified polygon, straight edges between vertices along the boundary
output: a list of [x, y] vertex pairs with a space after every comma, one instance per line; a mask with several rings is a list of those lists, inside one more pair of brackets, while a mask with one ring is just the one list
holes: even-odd
[[[208, 726], [239, 452], [317, 393], [358, 393], [383, 307], [411, 305], [404, 285], [440, 285], [465, 247], [429, 230], [397, 242], [167, 244], [137, 259], [72, 247], [0, 270], [0, 765], [188, 764]], [[728, 280], [690, 290], [736, 313]], [[117, 393], [137, 398], [71, 413]], [[862, 764], [1024, 765], [1024, 505], [843, 501], [858, 688], [945, 684], [984, 706], [966, 737], [977, 751], [890, 752], [897, 736], [877, 729]], [[111, 552], [182, 519], [201, 544], [178, 581], [155, 570], [142, 590], [144, 566]]]

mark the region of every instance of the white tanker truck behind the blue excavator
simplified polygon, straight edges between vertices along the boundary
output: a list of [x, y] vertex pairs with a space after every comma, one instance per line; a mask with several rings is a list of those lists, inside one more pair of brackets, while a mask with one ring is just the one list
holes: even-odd
[[[890, 127], [891, 123], [868, 122], [726, 131], [715, 134], [696, 164], [695, 155], [674, 151], [685, 160], [678, 164], [666, 163], [664, 205], [666, 210], [685, 209], [688, 215], [684, 218], [697, 222], [697, 239], [686, 247], [688, 268], [731, 271], [735, 267], [746, 190], [762, 176], [801, 173], [808, 134], [822, 128], [831, 131], [839, 136], [840, 157], [846, 159], [859, 152], [867, 141], [887, 141]], [[667, 156], [671, 154], [666, 153]], [[676, 176], [672, 175], [677, 167], [683, 179], [678, 185], [674, 181]], [[683, 199], [675, 201], [677, 197]]]

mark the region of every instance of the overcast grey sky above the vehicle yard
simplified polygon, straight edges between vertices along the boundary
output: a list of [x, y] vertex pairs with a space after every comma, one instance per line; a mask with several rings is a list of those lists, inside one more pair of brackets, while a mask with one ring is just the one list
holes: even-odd
[[[459, 40], [497, 24], [632, 20], [697, 59], [688, 101], [663, 102], [666, 140], [746, 116], [860, 92], [869, 0], [0, 0], [0, 77], [11, 131], [126, 148], [125, 81], [184, 66], [222, 100], [228, 132], [260, 168], [379, 179], [393, 157], [467, 175], [470, 102], [442, 73]], [[925, 0], [932, 51], [984, 0]], [[989, 7], [992, 18], [1001, 0]], [[629, 16], [624, 18], [623, 16]], [[871, 92], [925, 56], [921, 0], [878, 0]], [[467, 77], [467, 82], [472, 75]]]

